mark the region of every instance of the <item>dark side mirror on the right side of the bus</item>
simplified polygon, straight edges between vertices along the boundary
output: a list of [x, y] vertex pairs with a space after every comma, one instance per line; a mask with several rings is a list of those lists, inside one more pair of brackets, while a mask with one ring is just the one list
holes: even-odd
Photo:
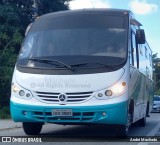
[[136, 31], [136, 41], [138, 44], [145, 44], [146, 37], [145, 37], [145, 32], [143, 29], [138, 29]]

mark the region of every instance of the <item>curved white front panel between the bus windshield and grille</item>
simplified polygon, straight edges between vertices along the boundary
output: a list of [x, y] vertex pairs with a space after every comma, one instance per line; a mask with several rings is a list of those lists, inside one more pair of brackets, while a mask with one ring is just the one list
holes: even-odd
[[[37, 75], [22, 73], [15, 69], [15, 81], [31, 91], [88, 92], [109, 88], [124, 75], [125, 70], [82, 75]], [[114, 77], [113, 77], [114, 76]], [[125, 79], [125, 78], [124, 78]], [[24, 83], [25, 82], [25, 83]]]

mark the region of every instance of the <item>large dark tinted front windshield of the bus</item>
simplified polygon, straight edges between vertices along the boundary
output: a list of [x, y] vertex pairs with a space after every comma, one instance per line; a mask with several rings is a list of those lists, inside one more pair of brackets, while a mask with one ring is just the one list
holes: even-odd
[[22, 45], [18, 63], [33, 67], [30, 58], [45, 58], [70, 65], [89, 60], [119, 64], [127, 55], [127, 26], [127, 17], [105, 14], [37, 20]]

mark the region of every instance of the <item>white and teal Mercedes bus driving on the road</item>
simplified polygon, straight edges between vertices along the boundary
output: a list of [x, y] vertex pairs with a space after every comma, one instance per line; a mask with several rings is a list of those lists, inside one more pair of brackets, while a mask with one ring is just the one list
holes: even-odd
[[84, 9], [39, 17], [15, 66], [10, 109], [28, 135], [43, 124], [117, 126], [152, 109], [152, 51], [129, 10]]

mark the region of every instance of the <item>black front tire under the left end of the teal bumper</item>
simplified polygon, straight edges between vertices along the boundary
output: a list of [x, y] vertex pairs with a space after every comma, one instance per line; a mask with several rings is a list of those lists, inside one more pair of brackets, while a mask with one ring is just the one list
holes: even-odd
[[41, 132], [42, 123], [23, 122], [23, 130], [27, 135], [38, 135]]

